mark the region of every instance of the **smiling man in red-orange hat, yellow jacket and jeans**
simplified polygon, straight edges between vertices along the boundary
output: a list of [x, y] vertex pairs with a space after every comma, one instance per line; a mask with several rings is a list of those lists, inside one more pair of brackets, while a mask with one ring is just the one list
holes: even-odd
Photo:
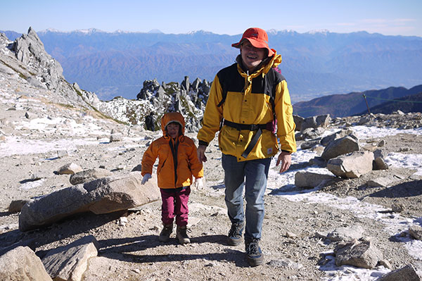
[[198, 132], [198, 158], [207, 161], [205, 149], [219, 131], [225, 201], [231, 220], [227, 243], [240, 244], [245, 230], [246, 259], [250, 266], [258, 266], [263, 262], [259, 242], [269, 164], [281, 149], [276, 163], [281, 163], [280, 173], [290, 167], [290, 154], [296, 151], [295, 123], [286, 80], [275, 70], [281, 56], [269, 48], [267, 32], [249, 28], [241, 41], [231, 46], [241, 54], [212, 82], [203, 127]]

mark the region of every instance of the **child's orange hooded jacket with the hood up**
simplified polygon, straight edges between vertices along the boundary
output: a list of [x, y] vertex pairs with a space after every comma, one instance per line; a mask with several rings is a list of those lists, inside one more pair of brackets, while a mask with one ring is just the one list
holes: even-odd
[[[167, 136], [166, 126], [172, 122], [181, 125], [177, 139]], [[184, 136], [184, 126], [183, 115], [177, 112], [166, 113], [161, 119], [163, 136], [155, 139], [143, 154], [142, 175], [153, 173], [153, 165], [158, 157], [157, 179], [158, 187], [162, 189], [187, 187], [192, 185], [192, 175], [204, 175], [203, 164], [196, 154], [196, 145], [192, 139]]]

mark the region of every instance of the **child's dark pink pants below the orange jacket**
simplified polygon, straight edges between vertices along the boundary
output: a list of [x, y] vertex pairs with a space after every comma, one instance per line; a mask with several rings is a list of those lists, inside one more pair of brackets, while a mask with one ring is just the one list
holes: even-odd
[[171, 225], [176, 216], [176, 225], [185, 226], [188, 224], [188, 199], [191, 194], [191, 187], [186, 187], [179, 192], [161, 192], [161, 220], [165, 225]]

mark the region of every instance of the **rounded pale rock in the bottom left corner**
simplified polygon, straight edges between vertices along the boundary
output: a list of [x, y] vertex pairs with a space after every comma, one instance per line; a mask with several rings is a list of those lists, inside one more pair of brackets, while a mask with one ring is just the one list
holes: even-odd
[[52, 281], [39, 257], [27, 246], [18, 246], [0, 256], [0, 280]]

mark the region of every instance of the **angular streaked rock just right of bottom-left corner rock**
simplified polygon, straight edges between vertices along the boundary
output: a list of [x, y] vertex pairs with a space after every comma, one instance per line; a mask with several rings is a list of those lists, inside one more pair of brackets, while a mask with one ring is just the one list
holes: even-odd
[[82, 280], [87, 270], [88, 259], [97, 256], [98, 242], [92, 235], [60, 246], [46, 253], [42, 263], [53, 280]]

